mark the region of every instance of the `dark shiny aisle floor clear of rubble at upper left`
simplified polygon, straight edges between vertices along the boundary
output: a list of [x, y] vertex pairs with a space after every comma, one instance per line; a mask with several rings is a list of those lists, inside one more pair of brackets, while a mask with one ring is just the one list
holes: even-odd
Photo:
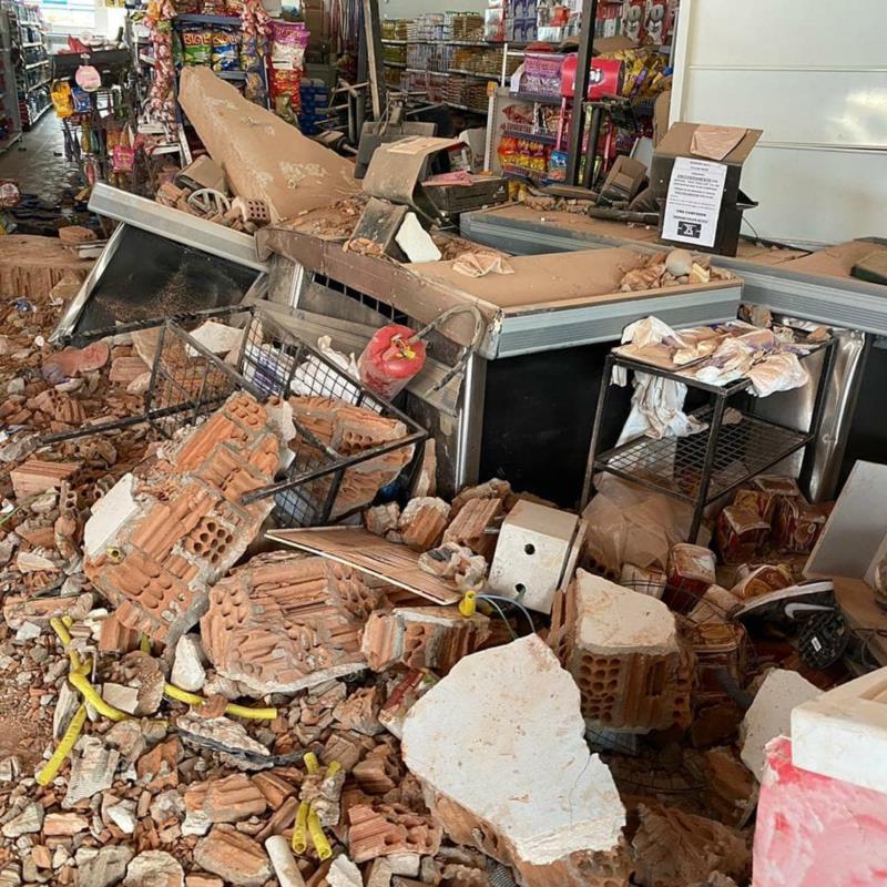
[[12, 179], [22, 194], [34, 194], [51, 203], [64, 191], [77, 187], [78, 169], [64, 159], [61, 123], [54, 114], [47, 114], [0, 156], [0, 179]]

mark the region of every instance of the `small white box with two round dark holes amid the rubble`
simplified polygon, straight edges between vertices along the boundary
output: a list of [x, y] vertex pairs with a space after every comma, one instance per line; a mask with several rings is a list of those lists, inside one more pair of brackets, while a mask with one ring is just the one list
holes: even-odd
[[539, 613], [550, 613], [571, 555], [579, 518], [557, 508], [520, 499], [502, 521], [489, 585]]

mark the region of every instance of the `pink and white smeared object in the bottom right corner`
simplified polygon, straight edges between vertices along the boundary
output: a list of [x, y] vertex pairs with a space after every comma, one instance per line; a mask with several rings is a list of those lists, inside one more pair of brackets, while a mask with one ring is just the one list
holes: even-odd
[[783, 736], [766, 755], [752, 887], [887, 887], [887, 794], [794, 766]]

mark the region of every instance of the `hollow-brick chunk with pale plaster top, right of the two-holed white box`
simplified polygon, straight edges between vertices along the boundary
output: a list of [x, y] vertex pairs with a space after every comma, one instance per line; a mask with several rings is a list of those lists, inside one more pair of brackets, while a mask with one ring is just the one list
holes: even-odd
[[577, 570], [554, 598], [549, 643], [595, 725], [643, 733], [690, 724], [693, 672], [656, 598]]

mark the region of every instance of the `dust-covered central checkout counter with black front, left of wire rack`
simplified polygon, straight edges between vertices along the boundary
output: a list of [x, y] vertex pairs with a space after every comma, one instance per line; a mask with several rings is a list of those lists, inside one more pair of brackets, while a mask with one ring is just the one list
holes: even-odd
[[[643, 259], [625, 246], [518, 256], [509, 259], [513, 274], [472, 278], [451, 262], [398, 265], [284, 226], [264, 228], [257, 242], [272, 302], [294, 312], [303, 335], [327, 334], [344, 350], [358, 351], [391, 319], [418, 328], [455, 305], [480, 309], [486, 335], [447, 402], [421, 380], [407, 390], [406, 411], [437, 440], [443, 496], [498, 476], [575, 504], [604, 358], [625, 325], [651, 314], [672, 326], [732, 319], [742, 290], [736, 278], [620, 293], [624, 273]], [[429, 354], [447, 366], [470, 341], [471, 323], [453, 318], [445, 332]]]

